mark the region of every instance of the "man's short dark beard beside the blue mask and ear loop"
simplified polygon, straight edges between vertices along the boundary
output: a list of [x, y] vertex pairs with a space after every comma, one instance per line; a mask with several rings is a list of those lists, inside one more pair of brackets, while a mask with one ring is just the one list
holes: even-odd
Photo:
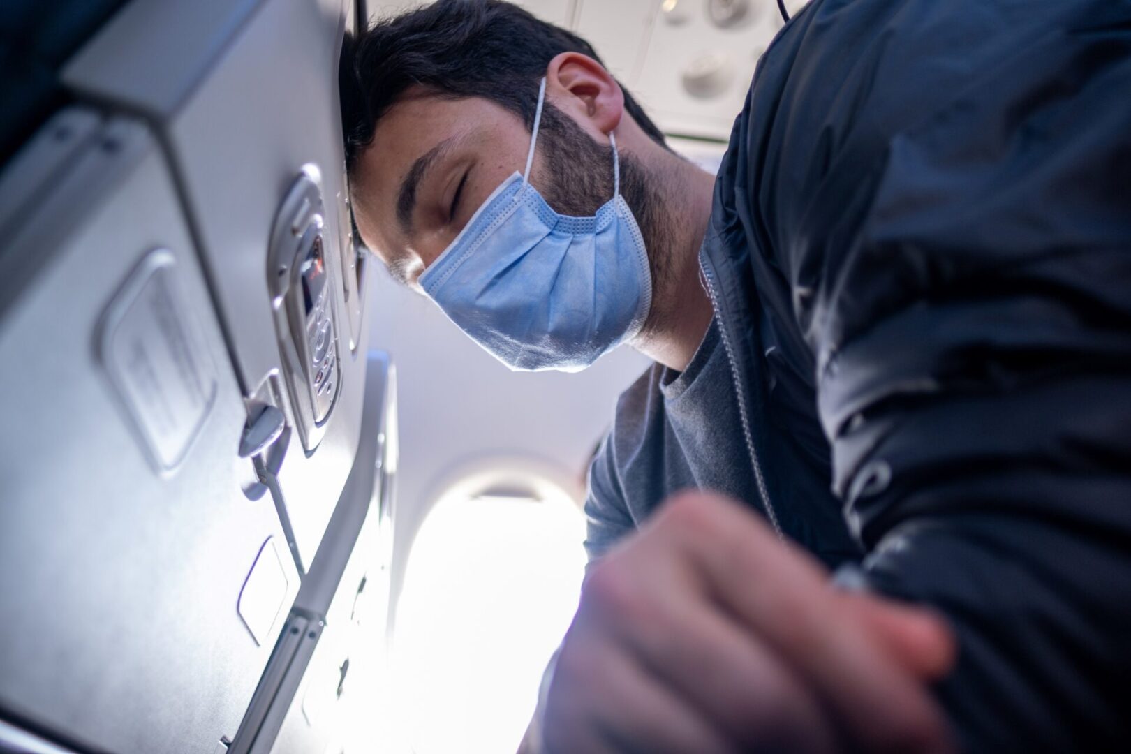
[[[573, 119], [545, 103], [542, 111], [538, 147], [543, 170], [538, 183], [542, 196], [554, 211], [572, 217], [589, 217], [613, 198], [613, 148], [595, 141]], [[671, 239], [672, 215], [664, 210], [663, 194], [647, 168], [630, 155], [620, 154], [621, 196], [632, 210], [648, 254], [653, 306], [641, 331], [646, 337], [661, 323], [662, 306], [670, 298], [675, 279], [675, 250]]]

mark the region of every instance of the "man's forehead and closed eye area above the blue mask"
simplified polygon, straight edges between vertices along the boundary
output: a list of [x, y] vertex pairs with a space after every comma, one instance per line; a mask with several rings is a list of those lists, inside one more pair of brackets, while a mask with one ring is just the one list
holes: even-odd
[[521, 119], [489, 99], [409, 90], [378, 122], [353, 177], [362, 239], [415, 285], [491, 192], [523, 171], [529, 142]]

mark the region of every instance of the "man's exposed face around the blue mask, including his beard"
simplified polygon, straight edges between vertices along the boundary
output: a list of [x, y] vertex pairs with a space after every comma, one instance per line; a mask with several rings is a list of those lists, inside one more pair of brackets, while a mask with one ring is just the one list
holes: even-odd
[[[613, 198], [613, 151], [604, 139], [547, 96], [530, 184], [558, 213], [592, 216]], [[501, 105], [409, 90], [378, 121], [351, 176], [362, 240], [395, 278], [420, 289], [421, 275], [487, 197], [525, 168], [529, 147], [523, 120]], [[632, 154], [622, 151], [620, 165], [621, 193], [648, 250], [653, 300], [664, 300], [674, 289], [672, 215], [657, 181]]]

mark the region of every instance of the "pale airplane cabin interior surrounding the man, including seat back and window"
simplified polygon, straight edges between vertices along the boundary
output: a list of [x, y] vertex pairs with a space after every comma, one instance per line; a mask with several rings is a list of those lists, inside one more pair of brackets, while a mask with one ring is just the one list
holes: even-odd
[[[3, 3], [0, 752], [521, 738], [648, 361], [511, 373], [357, 245], [343, 36], [411, 5]], [[783, 23], [520, 5], [711, 172]]]

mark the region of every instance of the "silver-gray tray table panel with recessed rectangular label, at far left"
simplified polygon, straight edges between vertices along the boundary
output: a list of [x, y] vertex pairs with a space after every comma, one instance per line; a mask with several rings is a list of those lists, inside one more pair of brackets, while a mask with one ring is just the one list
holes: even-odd
[[[8, 243], [14, 258], [50, 265], [29, 267], [0, 320], [0, 710], [84, 748], [213, 754], [274, 643], [256, 644], [236, 601], [283, 531], [269, 500], [241, 491], [243, 400], [146, 129], [110, 122]], [[215, 387], [185, 414], [204, 411], [202, 424], [178, 435], [187, 450], [164, 470], [135, 419], [153, 418], [170, 385], [152, 380], [149, 398], [128, 406], [98, 347], [112, 302], [129, 301], [122, 286], [156, 249], [169, 250], [176, 296], [153, 310], [154, 329], [129, 331], [122, 353], [138, 361], [123, 363], [199, 349], [191, 358], [210, 363]], [[145, 301], [165, 301], [155, 296]], [[164, 337], [178, 328], [197, 339]], [[282, 567], [278, 627], [299, 586], [290, 558]]]

